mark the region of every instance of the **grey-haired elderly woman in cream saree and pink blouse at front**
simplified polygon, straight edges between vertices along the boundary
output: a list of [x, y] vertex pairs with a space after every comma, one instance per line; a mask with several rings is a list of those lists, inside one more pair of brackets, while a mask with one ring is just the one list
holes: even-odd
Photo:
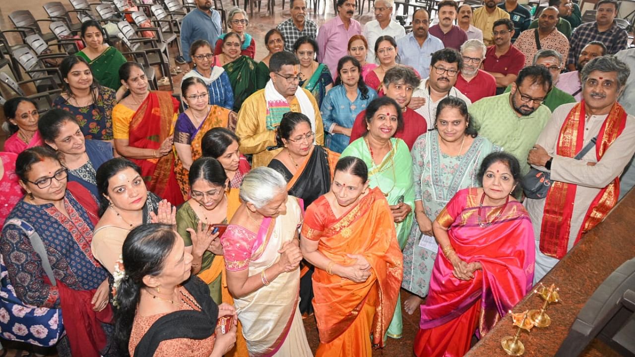
[[241, 184], [242, 205], [221, 238], [227, 287], [250, 356], [312, 356], [298, 309], [302, 203], [276, 170], [258, 167]]

